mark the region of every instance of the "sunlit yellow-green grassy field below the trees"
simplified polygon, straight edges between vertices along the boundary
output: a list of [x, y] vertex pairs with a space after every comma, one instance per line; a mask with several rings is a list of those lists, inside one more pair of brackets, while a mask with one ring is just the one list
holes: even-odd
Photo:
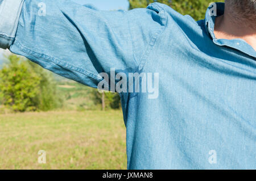
[[[46, 151], [46, 164], [38, 151]], [[0, 169], [126, 169], [122, 112], [0, 115]]]

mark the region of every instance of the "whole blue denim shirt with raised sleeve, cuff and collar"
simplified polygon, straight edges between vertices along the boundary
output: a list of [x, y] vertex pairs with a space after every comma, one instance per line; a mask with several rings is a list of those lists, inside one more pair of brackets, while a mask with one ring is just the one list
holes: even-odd
[[1, 47], [56, 74], [91, 87], [113, 68], [159, 74], [154, 99], [119, 93], [128, 169], [256, 169], [256, 52], [216, 39], [223, 3], [196, 22], [160, 3], [97, 11], [66, 0], [0, 2]]

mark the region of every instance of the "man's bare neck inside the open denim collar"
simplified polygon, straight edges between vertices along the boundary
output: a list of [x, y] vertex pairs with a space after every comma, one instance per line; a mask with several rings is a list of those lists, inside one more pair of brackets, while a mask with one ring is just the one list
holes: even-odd
[[214, 35], [217, 39], [243, 39], [256, 50], [256, 28], [247, 20], [237, 19], [225, 9], [224, 15], [216, 18]]

